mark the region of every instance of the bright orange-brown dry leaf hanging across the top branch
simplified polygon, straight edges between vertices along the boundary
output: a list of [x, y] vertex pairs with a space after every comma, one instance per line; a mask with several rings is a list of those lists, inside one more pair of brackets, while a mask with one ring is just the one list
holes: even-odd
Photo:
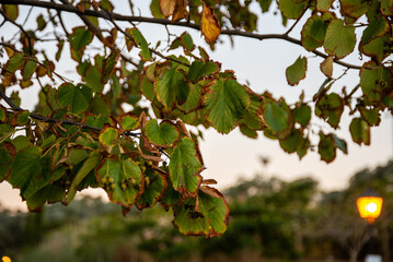
[[204, 2], [204, 10], [200, 20], [200, 31], [208, 44], [215, 43], [221, 34], [221, 26], [215, 14], [215, 10]]

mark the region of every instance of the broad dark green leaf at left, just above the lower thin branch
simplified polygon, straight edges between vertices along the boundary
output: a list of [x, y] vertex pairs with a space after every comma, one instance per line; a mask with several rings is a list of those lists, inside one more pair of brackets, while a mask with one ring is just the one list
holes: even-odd
[[84, 111], [92, 98], [92, 91], [85, 85], [62, 84], [56, 96], [61, 108], [69, 107], [69, 111], [80, 114]]

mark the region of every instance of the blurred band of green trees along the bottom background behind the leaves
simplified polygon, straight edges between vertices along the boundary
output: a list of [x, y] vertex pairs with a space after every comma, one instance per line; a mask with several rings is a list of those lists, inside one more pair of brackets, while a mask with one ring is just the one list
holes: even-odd
[[[160, 206], [131, 210], [84, 196], [42, 215], [1, 210], [0, 252], [15, 261], [360, 261], [370, 245], [356, 199], [372, 188], [384, 199], [373, 238], [392, 259], [393, 162], [356, 172], [339, 191], [323, 192], [312, 177], [284, 181], [262, 174], [224, 190], [228, 231], [220, 238], [185, 237]], [[33, 241], [33, 239], [36, 239]]]

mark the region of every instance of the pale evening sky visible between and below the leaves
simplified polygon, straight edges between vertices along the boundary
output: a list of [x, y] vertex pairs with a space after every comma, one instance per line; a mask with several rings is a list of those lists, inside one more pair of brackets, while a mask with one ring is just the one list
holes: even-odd
[[[115, 1], [120, 2], [120, 1]], [[127, 3], [128, 1], [122, 1]], [[147, 4], [150, 1], [135, 1]], [[136, 4], [137, 5], [137, 4]], [[259, 12], [257, 5], [253, 5]], [[129, 10], [120, 8], [115, 11]], [[141, 13], [150, 15], [147, 7], [141, 7]], [[119, 12], [120, 12], [119, 11]], [[21, 12], [22, 13], [22, 12]], [[33, 15], [34, 17], [34, 15]], [[72, 16], [74, 17], [74, 16]], [[77, 21], [77, 19], [67, 20]], [[301, 24], [296, 27], [291, 36], [299, 38]], [[126, 26], [129, 26], [126, 24]], [[263, 15], [258, 22], [259, 33], [284, 33], [286, 29], [280, 25], [280, 19], [273, 14]], [[7, 32], [16, 32], [15, 27], [8, 26]], [[70, 29], [71, 26], [68, 26]], [[148, 41], [155, 46], [158, 39], [166, 39], [166, 31], [163, 26], [152, 24], [140, 24], [138, 28], [145, 34]], [[172, 33], [189, 32], [193, 35], [196, 45], [205, 46], [204, 40], [198, 39], [199, 33], [193, 29], [170, 27]], [[2, 32], [5, 32], [2, 29]], [[0, 33], [2, 35], [3, 33]], [[357, 32], [359, 34], [359, 32]], [[222, 63], [223, 69], [234, 70], [238, 81], [245, 84], [250, 82], [250, 87], [255, 92], [269, 91], [278, 98], [284, 96], [287, 102], [293, 103], [302, 91], [305, 93], [305, 100], [310, 100], [324, 81], [324, 75], [320, 72], [319, 64], [321, 58], [314, 58], [301, 47], [282, 40], [255, 40], [241, 37], [234, 37], [234, 47], [232, 48], [227, 36], [220, 36], [222, 45], [217, 46], [215, 52], [210, 51], [210, 58]], [[357, 48], [357, 47], [356, 47]], [[206, 47], [207, 50], [208, 47]], [[285, 78], [285, 70], [300, 56], [309, 58], [309, 70], [305, 80], [298, 86], [289, 86]], [[63, 57], [67, 55], [63, 53]], [[365, 61], [358, 60], [355, 52], [345, 59], [347, 62], [361, 64]], [[72, 67], [71, 61], [61, 60], [62, 68], [60, 72], [68, 72]], [[334, 76], [340, 75], [343, 68], [334, 66]], [[351, 70], [336, 85], [335, 92], [346, 85], [347, 90], [352, 88], [358, 82], [358, 71]], [[22, 99], [36, 96], [38, 88], [23, 91]], [[24, 100], [22, 107], [32, 109], [36, 100]], [[348, 143], [348, 155], [337, 151], [337, 157], [334, 163], [325, 164], [320, 160], [316, 152], [309, 152], [302, 160], [299, 160], [296, 154], [285, 153], [277, 141], [265, 139], [262, 133], [257, 140], [251, 140], [242, 135], [239, 129], [235, 129], [228, 135], [217, 133], [213, 129], [205, 132], [205, 141], [200, 143], [201, 153], [207, 166], [201, 175], [205, 178], [213, 178], [218, 181], [218, 188], [226, 188], [233, 184], [240, 176], [253, 177], [255, 174], [263, 174], [265, 177], [278, 176], [286, 180], [291, 180], [302, 176], [313, 176], [320, 181], [324, 190], [340, 189], [346, 187], [348, 178], [357, 170], [366, 167], [375, 167], [384, 165], [393, 156], [393, 119], [388, 112], [382, 115], [380, 127], [373, 128], [371, 132], [371, 146], [359, 146], [351, 142], [348, 131], [349, 121], [347, 111], [343, 114], [340, 129], [337, 135], [345, 139]], [[313, 116], [313, 122], [330, 130], [326, 123]], [[269, 157], [270, 164], [263, 167], [258, 156]], [[90, 190], [91, 192], [91, 190]], [[101, 190], [93, 191], [95, 193]], [[21, 202], [19, 190], [11, 189], [8, 182], [0, 183], [0, 203], [3, 206], [19, 207], [25, 210], [25, 204]]]

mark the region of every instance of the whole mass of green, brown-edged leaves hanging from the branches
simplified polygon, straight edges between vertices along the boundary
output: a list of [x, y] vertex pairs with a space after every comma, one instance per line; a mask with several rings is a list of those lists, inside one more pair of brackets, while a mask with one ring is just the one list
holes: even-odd
[[[258, 2], [263, 12], [271, 4]], [[21, 31], [20, 37], [0, 43], [4, 60], [0, 95], [7, 104], [0, 106], [0, 180], [20, 188], [31, 211], [46, 202], [68, 204], [88, 187], [103, 188], [111, 201], [124, 206], [125, 214], [134, 205], [142, 210], [161, 203], [174, 211], [174, 225], [185, 235], [220, 236], [229, 210], [223, 196], [209, 187], [215, 181], [200, 175], [204, 160], [198, 139], [203, 133], [198, 127], [212, 127], [220, 133], [239, 127], [253, 139], [263, 131], [300, 158], [314, 146], [309, 138], [312, 107], [303, 95], [288, 105], [267, 92], [253, 92], [236, 81], [233, 71], [221, 70], [203, 47], [196, 47], [187, 32], [174, 39], [169, 34], [167, 46], [160, 49], [160, 43], [153, 48], [136, 26], [118, 25], [119, 21], [139, 21], [197, 28], [211, 48], [220, 34], [247, 33], [243, 35], [263, 39], [253, 33], [257, 15], [250, 10], [252, 1], [152, 0], [153, 17], [118, 14], [109, 0], [0, 3], [3, 20]], [[44, 7], [46, 13], [24, 28], [19, 3]], [[349, 127], [354, 141], [369, 144], [370, 127], [378, 126], [380, 112], [393, 106], [391, 61], [385, 61], [391, 55], [392, 4], [342, 0], [340, 14], [331, 0], [280, 0], [278, 8], [285, 24], [311, 10], [301, 40], [288, 37], [293, 26], [277, 37], [325, 58], [321, 71], [327, 79], [314, 96], [315, 115], [336, 129], [345, 106], [349, 107], [350, 114], [359, 112]], [[79, 16], [83, 24], [69, 33], [65, 12]], [[363, 14], [368, 23], [362, 24], [367, 27], [359, 51], [371, 60], [361, 67], [360, 83], [349, 94], [345, 90], [330, 93], [337, 80], [332, 78], [333, 63], [354, 51], [355, 23]], [[102, 21], [112, 27], [101, 27]], [[46, 41], [56, 44], [56, 53], [47, 53]], [[67, 46], [80, 80], [69, 80], [56, 70]], [[320, 47], [327, 55], [317, 51]], [[129, 57], [132, 51], [140, 61]], [[287, 69], [290, 85], [305, 76], [307, 66], [307, 58], [299, 57]], [[20, 107], [18, 91], [5, 95], [12, 86], [33, 84], [41, 86], [34, 111]], [[355, 100], [359, 87], [363, 95]], [[146, 99], [149, 107], [142, 106]], [[197, 127], [198, 132], [188, 131], [186, 124]], [[344, 140], [322, 131], [317, 148], [327, 163], [337, 148], [347, 153]]]

